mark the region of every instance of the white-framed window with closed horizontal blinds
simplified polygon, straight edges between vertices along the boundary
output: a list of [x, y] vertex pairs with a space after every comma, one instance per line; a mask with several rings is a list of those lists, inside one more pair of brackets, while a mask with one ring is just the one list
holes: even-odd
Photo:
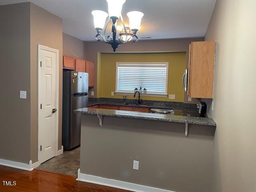
[[168, 62], [117, 62], [116, 92], [134, 93], [142, 87], [147, 94], [167, 95]]

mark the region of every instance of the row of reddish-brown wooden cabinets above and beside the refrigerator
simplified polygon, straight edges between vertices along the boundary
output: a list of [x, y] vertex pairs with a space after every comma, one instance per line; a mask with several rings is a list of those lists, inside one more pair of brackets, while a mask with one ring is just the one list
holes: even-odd
[[88, 73], [88, 86], [94, 86], [94, 62], [77, 59], [69, 56], [63, 56], [63, 68]]

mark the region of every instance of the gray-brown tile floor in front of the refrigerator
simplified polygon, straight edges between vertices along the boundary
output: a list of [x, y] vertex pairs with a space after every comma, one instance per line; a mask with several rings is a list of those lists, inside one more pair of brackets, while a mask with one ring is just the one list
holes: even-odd
[[80, 147], [64, 151], [63, 154], [47, 160], [36, 169], [77, 176], [79, 166]]

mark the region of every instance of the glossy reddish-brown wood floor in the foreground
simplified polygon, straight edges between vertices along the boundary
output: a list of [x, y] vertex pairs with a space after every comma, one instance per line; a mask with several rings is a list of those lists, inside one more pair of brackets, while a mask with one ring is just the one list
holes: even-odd
[[[15, 181], [4, 186], [2, 181]], [[0, 192], [130, 192], [77, 181], [76, 177], [44, 170], [20, 170], [0, 165]]]

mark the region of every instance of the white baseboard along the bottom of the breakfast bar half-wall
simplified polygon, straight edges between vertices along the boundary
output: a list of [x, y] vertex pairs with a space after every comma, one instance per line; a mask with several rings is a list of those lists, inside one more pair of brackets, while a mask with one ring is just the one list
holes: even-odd
[[94, 175], [83, 174], [83, 173], [80, 173], [80, 169], [78, 169], [78, 178], [76, 180], [134, 191], [134, 192], [174, 192], [174, 191], [160, 189], [160, 188], [154, 188], [154, 187], [128, 183], [128, 182], [114, 180], [114, 179], [98, 177]]

